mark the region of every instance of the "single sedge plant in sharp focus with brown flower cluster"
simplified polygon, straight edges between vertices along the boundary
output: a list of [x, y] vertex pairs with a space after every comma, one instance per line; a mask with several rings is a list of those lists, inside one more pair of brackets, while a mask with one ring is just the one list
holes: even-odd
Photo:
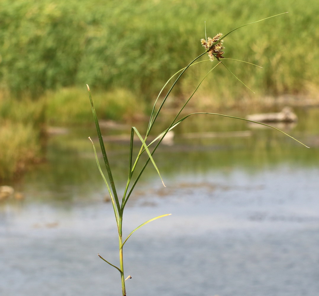
[[[278, 15], [282, 15], [282, 14], [283, 13], [278, 14]], [[254, 23], [257, 23], [257, 22], [260, 22], [260, 21], [263, 21], [263, 20], [278, 16], [278, 15], [274, 15], [274, 16], [271, 16], [271, 17], [268, 17], [268, 18], [264, 18], [264, 19], [261, 19], [261, 20], [258, 20], [258, 21], [243, 25], [243, 26], [248, 26], [248, 25], [251, 25], [251, 24], [254, 24]], [[241, 28], [243, 26], [237, 27], [234, 30], [230, 31], [229, 33], [225, 34], [223, 38], [225, 38], [228, 34], [234, 32], [235, 30], [237, 30], [237, 29], [239, 29], [239, 28]], [[231, 70], [228, 67], [226, 67], [226, 65], [222, 61], [223, 59], [226, 60], [226, 58], [224, 58], [224, 56], [223, 56], [224, 52], [222, 50], [224, 48], [224, 46], [223, 46], [224, 40], [222, 39], [222, 34], [221, 33], [217, 34], [213, 38], [211, 38], [211, 37], [207, 38], [206, 37], [206, 28], [205, 28], [205, 39], [202, 39], [200, 42], [201, 42], [202, 46], [205, 48], [205, 51], [201, 55], [197, 56], [193, 61], [191, 61], [185, 68], [179, 70], [171, 78], [169, 78], [168, 81], [166, 82], [166, 84], [163, 86], [163, 88], [159, 92], [159, 95], [157, 96], [157, 99], [155, 100], [153, 108], [152, 108], [152, 112], [151, 112], [151, 116], [150, 116], [150, 119], [149, 119], [149, 122], [148, 122], [148, 126], [147, 126], [147, 129], [146, 129], [145, 136], [143, 137], [139, 133], [139, 131], [137, 130], [136, 127], [132, 127], [131, 128], [130, 154], [129, 154], [129, 162], [128, 162], [128, 179], [127, 179], [127, 183], [126, 183], [126, 186], [125, 186], [125, 189], [124, 189], [124, 194], [123, 194], [122, 197], [119, 197], [118, 194], [117, 194], [116, 186], [115, 186], [115, 183], [114, 183], [114, 180], [113, 180], [113, 176], [112, 176], [112, 170], [111, 170], [111, 167], [110, 167], [110, 164], [109, 164], [109, 161], [108, 161], [107, 153], [106, 153], [105, 146], [104, 146], [103, 139], [102, 139], [102, 135], [101, 135], [99, 121], [98, 121], [98, 118], [97, 118], [97, 115], [96, 115], [96, 112], [95, 112], [95, 109], [94, 109], [93, 100], [92, 100], [92, 96], [91, 96], [91, 91], [90, 91], [89, 86], [87, 85], [88, 93], [89, 93], [89, 99], [90, 99], [90, 102], [91, 102], [91, 109], [92, 109], [94, 122], [95, 122], [95, 125], [96, 125], [96, 130], [97, 130], [97, 134], [98, 134], [98, 138], [99, 138], [99, 142], [100, 142], [100, 148], [101, 148], [104, 164], [105, 164], [106, 171], [107, 171], [107, 177], [102, 172], [102, 169], [101, 169], [101, 166], [100, 166], [100, 163], [99, 163], [99, 160], [98, 160], [97, 152], [96, 152], [95, 146], [93, 144], [93, 141], [91, 140], [90, 137], [89, 137], [89, 139], [91, 140], [91, 142], [93, 144], [93, 150], [94, 150], [94, 154], [95, 154], [95, 159], [96, 159], [100, 174], [103, 177], [103, 180], [104, 180], [105, 185], [107, 187], [107, 190], [108, 190], [111, 202], [112, 202], [114, 214], [115, 214], [115, 221], [116, 221], [116, 226], [117, 226], [117, 231], [118, 231], [118, 240], [119, 240], [119, 266], [116, 266], [116, 265], [108, 262], [106, 259], [104, 259], [99, 254], [98, 254], [98, 256], [102, 260], [104, 260], [106, 263], [108, 263], [109, 265], [111, 265], [112, 267], [114, 267], [115, 269], [117, 269], [120, 272], [121, 283], [122, 283], [122, 296], [126, 295], [125, 281], [126, 281], [126, 279], [131, 278], [130, 276], [127, 276], [125, 278], [125, 274], [124, 274], [123, 247], [124, 247], [125, 243], [130, 238], [130, 236], [137, 229], [139, 229], [140, 227], [142, 227], [145, 224], [147, 224], [147, 223], [149, 223], [151, 221], [154, 221], [156, 219], [171, 215], [171, 214], [164, 214], [164, 215], [160, 215], [158, 217], [152, 218], [152, 219], [144, 222], [140, 226], [136, 227], [130, 234], [128, 234], [125, 237], [125, 239], [123, 237], [122, 223], [123, 223], [123, 212], [124, 212], [125, 206], [126, 206], [128, 200], [129, 200], [134, 188], [136, 187], [137, 182], [139, 181], [140, 177], [142, 176], [142, 174], [143, 174], [146, 166], [149, 164], [149, 162], [151, 162], [152, 165], [154, 166], [155, 170], [157, 171], [157, 173], [159, 175], [159, 178], [161, 179], [161, 181], [162, 181], [162, 183], [164, 185], [164, 182], [163, 182], [163, 179], [162, 179], [162, 177], [160, 175], [159, 169], [158, 169], [158, 167], [157, 167], [157, 165], [156, 165], [156, 163], [155, 163], [155, 161], [153, 159], [153, 154], [155, 153], [155, 151], [157, 150], [157, 148], [161, 144], [161, 142], [164, 139], [164, 137], [166, 136], [166, 134], [170, 130], [174, 129], [177, 125], [179, 125], [181, 122], [183, 122], [185, 119], [187, 119], [191, 115], [209, 114], [209, 115], [225, 116], [225, 117], [230, 117], [230, 118], [244, 120], [244, 121], [249, 121], [249, 122], [255, 122], [255, 121], [251, 121], [251, 120], [248, 120], [248, 119], [245, 119], [245, 118], [229, 116], [229, 115], [223, 115], [223, 114], [217, 114], [217, 113], [206, 113], [206, 112], [205, 113], [204, 112], [191, 113], [191, 114], [188, 114], [188, 115], [178, 119], [179, 116], [181, 115], [183, 109], [186, 107], [186, 105], [189, 103], [191, 98], [196, 93], [198, 87], [201, 85], [201, 83], [204, 81], [204, 79], [208, 76], [208, 74], [210, 74], [210, 72], [212, 70], [214, 70], [216, 67], [218, 67], [220, 65], [224, 66], [236, 79], [238, 79], [242, 84], [244, 84], [238, 77], [236, 77], [236, 75], [233, 72], [231, 72]], [[208, 54], [209, 60], [197, 62], [197, 60], [199, 60], [205, 54]], [[234, 59], [228, 59], [228, 60], [234, 60]], [[157, 120], [157, 118], [158, 118], [158, 116], [159, 116], [159, 114], [160, 114], [160, 112], [162, 110], [162, 107], [165, 104], [165, 102], [166, 102], [169, 94], [173, 90], [174, 86], [177, 84], [177, 82], [180, 80], [182, 75], [185, 73], [185, 71], [190, 66], [193, 66], [193, 65], [195, 65], [197, 63], [201, 63], [201, 62], [206, 62], [206, 61], [215, 61], [216, 63], [212, 66], [212, 69], [204, 76], [204, 78], [199, 82], [199, 84], [197, 85], [196, 89], [190, 95], [190, 97], [185, 101], [183, 106], [180, 108], [180, 110], [178, 111], [178, 113], [176, 114], [174, 119], [172, 120], [171, 124], [166, 129], [164, 129], [154, 140], [152, 140], [150, 143], [148, 143], [149, 141], [147, 141], [147, 140], [148, 140], [150, 132], [151, 132], [153, 126], [154, 126], [154, 123], [156, 122], [156, 120]], [[234, 60], [234, 61], [239, 61], [239, 60]], [[249, 62], [244, 62], [244, 61], [239, 61], [239, 62], [251, 64]], [[251, 65], [254, 65], [254, 64], [251, 64]], [[257, 65], [254, 65], [254, 66], [257, 66]], [[161, 97], [161, 94], [162, 94], [163, 90], [165, 89], [167, 84], [176, 76], [177, 76], [177, 78], [175, 78], [175, 80], [172, 83], [171, 87], [169, 88], [168, 92], [166, 93], [166, 95], [164, 96], [164, 98], [160, 102], [159, 100], [160, 100], [160, 97]], [[248, 86], [246, 86], [246, 87], [248, 87]], [[264, 123], [260, 123], [260, 122], [255, 122], [255, 123], [259, 123], [259, 124], [265, 125], [267, 127], [276, 129], [279, 132], [284, 133], [286, 136], [293, 138], [292, 136], [289, 136], [285, 132], [283, 132], [283, 131], [275, 128], [275, 127], [272, 127], [270, 125], [267, 125], [267, 124], [264, 124]], [[134, 136], [135, 135], [139, 138], [139, 140], [141, 142], [141, 147], [139, 149], [139, 152], [137, 153], [136, 158], [134, 159], [133, 158], [133, 142], [134, 142]], [[296, 139], [294, 139], [294, 140], [296, 140]], [[299, 142], [298, 140], [296, 140], [296, 141]], [[299, 142], [299, 143], [302, 144], [301, 142]], [[305, 144], [302, 144], [302, 145], [306, 146]], [[309, 148], [308, 146], [306, 146], [306, 147]], [[138, 172], [137, 172], [137, 163], [141, 160], [141, 155], [143, 153], [146, 153], [148, 157], [147, 157], [146, 161], [144, 160], [145, 162], [144, 162], [144, 165], [142, 165], [142, 168], [139, 169]]]

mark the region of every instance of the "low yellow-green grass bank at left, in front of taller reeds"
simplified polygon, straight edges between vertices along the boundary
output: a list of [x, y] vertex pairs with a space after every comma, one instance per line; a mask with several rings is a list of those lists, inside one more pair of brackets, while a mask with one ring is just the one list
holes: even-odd
[[[139, 119], [143, 102], [130, 91], [97, 92], [99, 116], [114, 121]], [[63, 107], [62, 107], [63, 106]], [[19, 176], [45, 156], [47, 127], [92, 123], [92, 112], [80, 88], [47, 92], [38, 100], [0, 98], [0, 180]]]

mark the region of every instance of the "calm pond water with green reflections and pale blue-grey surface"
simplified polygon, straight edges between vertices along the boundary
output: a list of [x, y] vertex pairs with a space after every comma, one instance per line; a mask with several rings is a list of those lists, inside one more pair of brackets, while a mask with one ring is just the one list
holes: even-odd
[[[297, 111], [284, 129], [311, 149], [227, 118], [176, 129], [155, 154], [167, 187], [149, 166], [125, 209], [126, 234], [172, 213], [127, 241], [127, 295], [319, 295], [319, 110]], [[116, 184], [129, 132], [103, 131]], [[98, 144], [93, 126], [51, 136], [47, 162], [9, 184], [24, 199], [0, 204], [0, 295], [121, 295], [97, 256], [117, 265], [118, 242], [88, 136]]]

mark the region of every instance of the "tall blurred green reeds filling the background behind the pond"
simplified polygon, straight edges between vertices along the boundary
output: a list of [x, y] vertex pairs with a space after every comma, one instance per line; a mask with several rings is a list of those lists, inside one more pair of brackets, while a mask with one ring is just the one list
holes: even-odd
[[[316, 0], [307, 1], [307, 5], [302, 0], [3, 0], [1, 88], [14, 96], [27, 93], [36, 98], [48, 89], [84, 83], [106, 90], [125, 85], [151, 104], [165, 79], [187, 64], [187, 56], [200, 53], [197, 41], [203, 37], [204, 21], [208, 35], [212, 35], [229, 31], [229, 24], [240, 25], [272, 11], [289, 14], [243, 28], [241, 36], [229, 37], [226, 47], [227, 57], [258, 61], [264, 70], [225, 63], [258, 97], [318, 91]], [[172, 52], [174, 59], [170, 58]], [[190, 69], [174, 89], [176, 95], [188, 93], [205, 67]], [[251, 97], [225, 69], [217, 71], [220, 80], [204, 82], [198, 101], [205, 100], [212, 87], [219, 93], [212, 100], [221, 104], [226, 99], [238, 102]]]

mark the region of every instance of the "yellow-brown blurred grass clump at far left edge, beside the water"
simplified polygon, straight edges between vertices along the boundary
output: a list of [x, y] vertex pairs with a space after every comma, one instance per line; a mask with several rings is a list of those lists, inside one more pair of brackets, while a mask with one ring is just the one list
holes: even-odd
[[0, 99], [0, 180], [25, 171], [43, 157], [44, 102]]

